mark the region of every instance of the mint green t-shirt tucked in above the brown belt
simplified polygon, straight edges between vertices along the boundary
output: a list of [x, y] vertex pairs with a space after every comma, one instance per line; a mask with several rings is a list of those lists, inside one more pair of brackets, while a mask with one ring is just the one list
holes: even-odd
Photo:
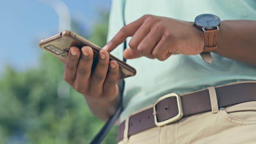
[[[124, 26], [122, 9], [122, 0], [112, 1], [108, 40]], [[256, 20], [256, 1], [126, 0], [126, 23], [135, 21], [145, 14], [184, 21], [194, 21], [200, 14], [214, 14], [219, 16], [220, 20]], [[127, 44], [129, 40], [130, 38], [127, 39]], [[123, 44], [112, 54], [123, 58]], [[168, 93], [183, 94], [208, 86], [256, 80], [256, 67], [216, 53], [212, 53], [212, 56], [211, 64], [204, 62], [200, 55], [174, 55], [166, 61], [147, 57], [128, 59], [127, 63], [137, 69], [137, 75], [125, 79], [124, 111], [121, 113], [120, 121], [124, 121], [126, 117], [143, 107], [152, 105]]]

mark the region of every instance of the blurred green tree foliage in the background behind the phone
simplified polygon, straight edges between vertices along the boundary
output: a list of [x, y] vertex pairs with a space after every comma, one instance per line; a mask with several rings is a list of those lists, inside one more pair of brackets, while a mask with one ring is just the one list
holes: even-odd
[[[107, 29], [108, 13], [103, 11], [89, 40], [104, 46]], [[100, 130], [104, 123], [63, 80], [63, 68], [58, 58], [43, 51], [36, 68], [5, 68], [0, 79], [0, 143], [84, 144]], [[114, 127], [103, 143], [115, 143], [116, 137]]]

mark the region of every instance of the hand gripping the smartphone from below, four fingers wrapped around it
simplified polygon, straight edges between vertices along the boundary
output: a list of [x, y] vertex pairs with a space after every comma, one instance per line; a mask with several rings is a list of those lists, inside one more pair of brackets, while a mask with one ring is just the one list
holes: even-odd
[[118, 96], [119, 67], [116, 61], [109, 62], [109, 53], [100, 51], [98, 63], [91, 75], [94, 52], [91, 47], [71, 47], [65, 62], [64, 79], [76, 91], [92, 103], [108, 103]]

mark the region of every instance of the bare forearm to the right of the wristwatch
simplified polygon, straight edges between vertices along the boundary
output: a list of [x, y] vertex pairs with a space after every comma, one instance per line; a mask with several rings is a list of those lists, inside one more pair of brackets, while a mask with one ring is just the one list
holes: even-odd
[[222, 21], [217, 41], [218, 55], [256, 66], [256, 21]]

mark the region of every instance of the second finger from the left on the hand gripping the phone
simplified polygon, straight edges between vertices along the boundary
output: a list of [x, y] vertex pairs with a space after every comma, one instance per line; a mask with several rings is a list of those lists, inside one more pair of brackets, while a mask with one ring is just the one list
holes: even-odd
[[77, 76], [75, 77], [75, 89], [82, 93], [86, 94], [88, 92], [90, 75], [91, 75], [91, 66], [94, 61], [94, 51], [92, 51], [91, 47], [84, 46], [82, 47], [82, 56], [80, 57], [78, 68], [77, 68]]

